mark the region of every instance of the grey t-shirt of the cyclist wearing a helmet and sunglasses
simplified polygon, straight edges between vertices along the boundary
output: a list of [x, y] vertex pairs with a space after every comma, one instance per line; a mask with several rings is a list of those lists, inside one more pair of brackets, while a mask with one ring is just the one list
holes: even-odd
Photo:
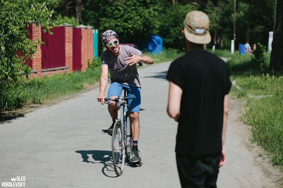
[[120, 45], [121, 53], [118, 58], [110, 55], [109, 52], [104, 51], [101, 54], [101, 66], [107, 65], [110, 72], [111, 81], [116, 81], [133, 87], [141, 87], [138, 77], [137, 65], [127, 65], [125, 58], [131, 57], [130, 52], [135, 55], [140, 55], [142, 52], [129, 45]]

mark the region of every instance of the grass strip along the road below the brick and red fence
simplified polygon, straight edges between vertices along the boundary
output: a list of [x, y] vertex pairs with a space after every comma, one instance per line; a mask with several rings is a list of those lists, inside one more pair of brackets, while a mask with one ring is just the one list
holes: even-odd
[[88, 69], [86, 72], [54, 74], [51, 77], [20, 80], [17, 84], [2, 87], [0, 111], [21, 108], [29, 103], [42, 104], [85, 89], [87, 84], [94, 84], [100, 78], [100, 68]]

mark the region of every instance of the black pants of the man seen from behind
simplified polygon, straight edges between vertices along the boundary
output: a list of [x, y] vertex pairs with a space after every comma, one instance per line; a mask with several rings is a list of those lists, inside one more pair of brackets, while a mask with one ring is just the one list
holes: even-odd
[[221, 152], [208, 155], [176, 154], [182, 187], [216, 187]]

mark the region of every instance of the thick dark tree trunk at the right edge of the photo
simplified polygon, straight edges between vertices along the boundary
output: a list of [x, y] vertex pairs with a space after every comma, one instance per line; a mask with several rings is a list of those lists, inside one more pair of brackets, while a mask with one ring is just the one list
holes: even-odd
[[269, 72], [274, 74], [283, 69], [283, 1], [275, 0], [275, 24]]

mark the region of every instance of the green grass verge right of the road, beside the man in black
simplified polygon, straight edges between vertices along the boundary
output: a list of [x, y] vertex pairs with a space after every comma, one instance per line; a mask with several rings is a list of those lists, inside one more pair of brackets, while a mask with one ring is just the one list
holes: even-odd
[[227, 62], [232, 98], [244, 101], [241, 120], [250, 125], [252, 141], [264, 148], [274, 165], [283, 171], [283, 74], [267, 73], [270, 54], [261, 61], [235, 54]]

